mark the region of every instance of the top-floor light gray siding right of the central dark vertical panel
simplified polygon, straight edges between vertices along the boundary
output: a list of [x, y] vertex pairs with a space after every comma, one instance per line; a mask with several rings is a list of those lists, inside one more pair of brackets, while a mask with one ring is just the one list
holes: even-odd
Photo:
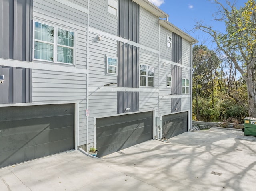
[[140, 44], [158, 50], [159, 24], [158, 17], [140, 6]]

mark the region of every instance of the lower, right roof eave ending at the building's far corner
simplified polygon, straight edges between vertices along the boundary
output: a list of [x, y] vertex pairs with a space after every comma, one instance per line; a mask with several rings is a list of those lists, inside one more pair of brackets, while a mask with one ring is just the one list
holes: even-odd
[[174, 26], [173, 24], [171, 24], [170, 22], [168, 22], [167, 20], [159, 20], [159, 24], [161, 26], [163, 26], [164, 28], [176, 33], [177, 35], [180, 35], [182, 38], [184, 38], [185, 40], [189, 41], [190, 43], [194, 44], [197, 43], [198, 41], [196, 39], [194, 39], [192, 36], [188, 35], [187, 33], [185, 33], [184, 31], [182, 31], [181, 29], [179, 29], [178, 27]]

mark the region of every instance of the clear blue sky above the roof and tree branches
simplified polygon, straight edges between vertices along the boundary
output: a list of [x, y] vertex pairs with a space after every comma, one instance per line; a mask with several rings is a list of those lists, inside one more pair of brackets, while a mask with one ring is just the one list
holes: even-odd
[[[161, 10], [169, 14], [169, 22], [180, 28], [192, 37], [197, 39], [199, 43], [209, 39], [209, 36], [203, 32], [190, 33], [188, 32], [196, 24], [196, 21], [203, 21], [206, 25], [210, 25], [214, 30], [225, 32], [224, 22], [214, 21], [214, 13], [218, 11], [218, 5], [212, 3], [211, 0], [149, 0]], [[231, 3], [234, 0], [229, 0]], [[223, 5], [226, 5], [226, 0], [219, 0]], [[236, 0], [236, 8], [244, 6], [247, 0]], [[208, 40], [204, 45], [208, 48], [214, 48], [211, 40]]]

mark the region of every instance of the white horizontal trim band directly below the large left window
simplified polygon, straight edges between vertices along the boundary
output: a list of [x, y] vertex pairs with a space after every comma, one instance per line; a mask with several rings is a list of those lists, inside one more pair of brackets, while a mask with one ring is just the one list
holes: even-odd
[[75, 68], [74, 65], [56, 65], [55, 63], [36, 63], [36, 62], [26, 62], [26, 61], [18, 61], [18, 60], [9, 60], [9, 59], [1, 59], [0, 65], [9, 66], [9, 67], [21, 67], [21, 68], [30, 68], [30, 69], [38, 69], [38, 70], [47, 70], [47, 71], [60, 71], [60, 72], [68, 72], [68, 73], [79, 73], [86, 74], [87, 69]]

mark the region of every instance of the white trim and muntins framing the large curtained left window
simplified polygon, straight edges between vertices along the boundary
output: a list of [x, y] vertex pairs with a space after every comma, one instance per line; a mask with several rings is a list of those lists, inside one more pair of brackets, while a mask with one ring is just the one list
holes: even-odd
[[[50, 42], [47, 42], [48, 44], [52, 44], [54, 45], [54, 54], [53, 54], [53, 61], [50, 61], [50, 60], [43, 60], [43, 59], [36, 59], [35, 58], [35, 51], [34, 51], [34, 47], [35, 47], [35, 22], [38, 22], [38, 23], [41, 23], [41, 24], [45, 24], [45, 25], [49, 25], [49, 26], [52, 26], [54, 27], [54, 43], [50, 43]], [[60, 45], [60, 46], [63, 46], [63, 47], [68, 47], [68, 48], [73, 48], [73, 63], [65, 63], [65, 62], [58, 62], [57, 61], [57, 47], [58, 47], [58, 30], [55, 30], [55, 29], [62, 29], [62, 30], [67, 30], [69, 32], [74, 32], [74, 47], [68, 47], [68, 46], [65, 46], [65, 45]], [[40, 40], [36, 40], [37, 42], [44, 42], [44, 41], [40, 41]], [[46, 42], [44, 42], [46, 43]], [[48, 62], [48, 63], [60, 63], [60, 64], [65, 64], [65, 65], [74, 65], [76, 66], [76, 31], [73, 30], [73, 29], [70, 29], [70, 28], [67, 28], [67, 27], [62, 27], [62, 26], [57, 26], [56, 24], [53, 24], [53, 23], [46, 23], [44, 21], [41, 21], [41, 20], [33, 20], [33, 51], [32, 51], [32, 56], [33, 56], [33, 60], [34, 61], [42, 61], [42, 62]]]

